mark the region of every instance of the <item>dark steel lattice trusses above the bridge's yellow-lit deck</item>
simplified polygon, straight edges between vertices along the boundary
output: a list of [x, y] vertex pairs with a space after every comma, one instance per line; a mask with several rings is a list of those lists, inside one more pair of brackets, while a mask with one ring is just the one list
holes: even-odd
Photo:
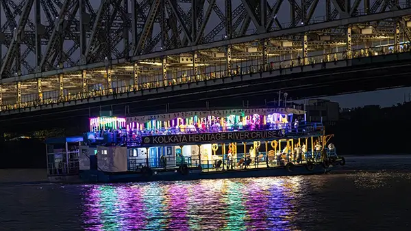
[[[126, 62], [155, 51], [177, 54], [201, 44], [211, 48], [216, 41], [263, 38], [270, 31], [303, 32], [313, 23], [403, 8], [395, 0], [16, 1], [2, 0], [0, 6], [3, 79], [112, 59]], [[393, 29], [377, 23], [379, 33]]]

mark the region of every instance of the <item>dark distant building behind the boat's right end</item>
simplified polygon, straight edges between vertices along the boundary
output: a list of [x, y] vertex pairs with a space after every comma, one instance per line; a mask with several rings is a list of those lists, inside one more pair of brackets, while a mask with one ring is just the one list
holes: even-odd
[[306, 105], [307, 120], [311, 122], [336, 122], [340, 116], [340, 104], [330, 100], [312, 99]]

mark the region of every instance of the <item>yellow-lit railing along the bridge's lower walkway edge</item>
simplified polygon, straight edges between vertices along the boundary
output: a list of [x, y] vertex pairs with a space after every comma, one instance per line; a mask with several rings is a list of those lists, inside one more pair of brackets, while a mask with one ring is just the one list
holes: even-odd
[[[392, 50], [387, 46], [371, 47], [369, 49], [360, 49], [353, 51], [339, 51], [335, 53], [327, 53], [321, 55], [312, 55], [310, 57], [295, 57], [292, 59], [280, 60], [277, 62], [269, 62], [266, 64], [261, 64], [260, 58], [250, 57], [249, 59], [242, 60], [241, 63], [246, 66], [235, 66], [231, 68], [220, 69], [221, 66], [209, 66], [208, 72], [203, 72], [199, 74], [186, 75], [182, 74], [179, 77], [156, 80], [156, 81], [145, 81], [143, 83], [138, 83], [136, 85], [125, 85], [120, 87], [113, 87], [112, 89], [99, 89], [99, 90], [89, 90], [88, 92], [78, 92], [77, 94], [69, 94], [62, 97], [50, 97], [50, 98], [33, 98], [32, 100], [27, 100], [26, 102], [16, 103], [3, 101], [0, 103], [0, 111], [8, 111], [14, 109], [22, 109], [27, 107], [38, 107], [41, 105], [51, 105], [55, 103], [70, 102], [73, 100], [83, 100], [88, 98], [96, 98], [100, 96], [110, 96], [115, 94], [124, 94], [127, 92], [138, 92], [142, 90], [151, 90], [160, 87], [168, 87], [172, 85], [181, 85], [185, 83], [196, 83], [200, 81], [212, 80], [212, 79], [223, 79], [240, 77], [243, 74], [253, 74], [264, 71], [281, 70], [285, 68], [295, 68], [301, 66], [309, 66], [319, 63], [336, 62], [344, 59], [360, 59], [362, 57], [371, 57], [376, 55], [387, 55], [393, 53]], [[398, 53], [410, 52], [410, 45], [400, 46]]]

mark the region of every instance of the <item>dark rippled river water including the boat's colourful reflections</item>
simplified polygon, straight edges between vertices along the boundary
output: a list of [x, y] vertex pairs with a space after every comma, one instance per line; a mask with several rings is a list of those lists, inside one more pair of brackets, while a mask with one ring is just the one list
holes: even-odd
[[0, 230], [411, 230], [411, 155], [332, 174], [113, 185], [0, 170]]

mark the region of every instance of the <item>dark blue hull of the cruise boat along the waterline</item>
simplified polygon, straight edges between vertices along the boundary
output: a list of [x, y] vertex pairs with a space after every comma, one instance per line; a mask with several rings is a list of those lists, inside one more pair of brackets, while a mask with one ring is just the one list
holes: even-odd
[[308, 169], [306, 165], [295, 165], [292, 171], [286, 167], [266, 167], [258, 169], [236, 169], [226, 171], [201, 172], [200, 169], [190, 169], [188, 174], [178, 171], [155, 172], [142, 174], [141, 172], [119, 172], [108, 173], [97, 170], [85, 170], [80, 172], [79, 178], [82, 182], [150, 182], [150, 181], [177, 181], [177, 180], [201, 180], [201, 179], [223, 179], [223, 178], [254, 178], [267, 176], [297, 176], [309, 174], [324, 174], [331, 168], [323, 165], [314, 165]]

